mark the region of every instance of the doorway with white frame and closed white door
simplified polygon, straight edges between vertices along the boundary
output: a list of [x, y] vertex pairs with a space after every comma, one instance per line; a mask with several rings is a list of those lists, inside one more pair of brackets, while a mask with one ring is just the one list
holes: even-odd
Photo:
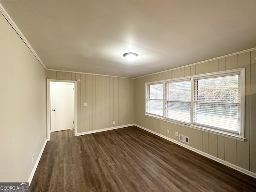
[[47, 80], [47, 140], [50, 133], [74, 129], [76, 136], [76, 81]]

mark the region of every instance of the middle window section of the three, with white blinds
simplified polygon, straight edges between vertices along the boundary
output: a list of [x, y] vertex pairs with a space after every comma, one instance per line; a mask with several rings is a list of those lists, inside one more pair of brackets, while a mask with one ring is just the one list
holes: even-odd
[[165, 117], [190, 123], [191, 81], [167, 82], [165, 87]]

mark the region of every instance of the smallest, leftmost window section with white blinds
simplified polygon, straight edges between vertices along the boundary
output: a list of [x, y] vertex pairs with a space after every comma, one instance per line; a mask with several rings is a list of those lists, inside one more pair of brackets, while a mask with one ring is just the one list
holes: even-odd
[[163, 116], [164, 84], [148, 84], [146, 96], [146, 113]]

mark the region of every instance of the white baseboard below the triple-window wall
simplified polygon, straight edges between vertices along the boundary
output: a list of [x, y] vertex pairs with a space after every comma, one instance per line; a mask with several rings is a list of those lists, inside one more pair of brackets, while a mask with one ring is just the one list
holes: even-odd
[[254, 173], [254, 172], [248, 171], [248, 170], [246, 170], [246, 169], [244, 169], [244, 168], [238, 167], [238, 166], [236, 166], [236, 165], [234, 165], [234, 164], [231, 164], [231, 163], [229, 163], [229, 162], [226, 162], [226, 161], [224, 161], [224, 160], [222, 160], [222, 159], [216, 158], [216, 157], [214, 157], [214, 156], [212, 156], [212, 155], [209, 155], [208, 153], [205, 153], [205, 152], [202, 152], [202, 151], [197, 150], [197, 149], [195, 149], [195, 148], [192, 148], [192, 147], [190, 147], [190, 146], [188, 146], [188, 145], [185, 145], [185, 144], [183, 144], [183, 143], [180, 143], [180, 142], [178, 142], [178, 141], [176, 141], [176, 140], [173, 140], [173, 139], [171, 139], [171, 138], [168, 138], [168, 137], [166, 137], [166, 136], [164, 136], [164, 135], [161, 135], [161, 134], [159, 134], [159, 133], [156, 133], [156, 132], [154, 132], [154, 131], [152, 131], [152, 130], [149, 130], [149, 129], [144, 128], [144, 127], [142, 127], [142, 126], [139, 126], [139, 125], [137, 125], [137, 124], [134, 124], [134, 125], [137, 126], [137, 127], [139, 127], [139, 128], [141, 128], [141, 129], [144, 129], [144, 130], [146, 130], [146, 131], [148, 131], [148, 132], [150, 132], [150, 133], [152, 133], [152, 134], [155, 134], [155, 135], [157, 135], [157, 136], [160, 136], [160, 137], [162, 137], [162, 138], [164, 138], [164, 139], [166, 139], [166, 140], [169, 140], [169, 141], [171, 141], [171, 142], [174, 142], [174, 143], [176, 143], [176, 144], [178, 144], [178, 145], [180, 145], [180, 146], [182, 146], [182, 147], [184, 147], [184, 148], [187, 148], [187, 149], [189, 149], [189, 150], [192, 150], [192, 151], [194, 151], [194, 152], [196, 152], [196, 153], [198, 153], [198, 154], [200, 154], [200, 155], [202, 155], [202, 156], [205, 156], [205, 157], [210, 158], [210, 159], [212, 159], [212, 160], [214, 160], [214, 161], [216, 161], [216, 162], [219, 162], [219, 163], [221, 163], [221, 164], [223, 164], [223, 165], [226, 165], [226, 166], [228, 166], [228, 167], [230, 167], [230, 168], [232, 168], [232, 169], [234, 169], [234, 170], [237, 170], [237, 171], [242, 172], [242, 173], [244, 173], [244, 174], [246, 174], [246, 175], [248, 175], [248, 176], [251, 176], [251, 177], [253, 177], [253, 178], [256, 178], [256, 173]]

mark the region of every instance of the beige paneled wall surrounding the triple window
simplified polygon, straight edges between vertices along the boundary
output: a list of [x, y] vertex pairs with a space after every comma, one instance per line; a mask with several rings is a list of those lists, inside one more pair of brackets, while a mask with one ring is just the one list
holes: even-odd
[[[190, 138], [189, 146], [256, 173], [256, 50], [184, 68], [148, 75], [135, 80], [135, 124], [178, 140], [175, 131]], [[195, 130], [171, 122], [145, 116], [145, 83], [246, 68], [245, 136], [241, 142], [213, 133]], [[167, 129], [170, 133], [167, 133]]]

